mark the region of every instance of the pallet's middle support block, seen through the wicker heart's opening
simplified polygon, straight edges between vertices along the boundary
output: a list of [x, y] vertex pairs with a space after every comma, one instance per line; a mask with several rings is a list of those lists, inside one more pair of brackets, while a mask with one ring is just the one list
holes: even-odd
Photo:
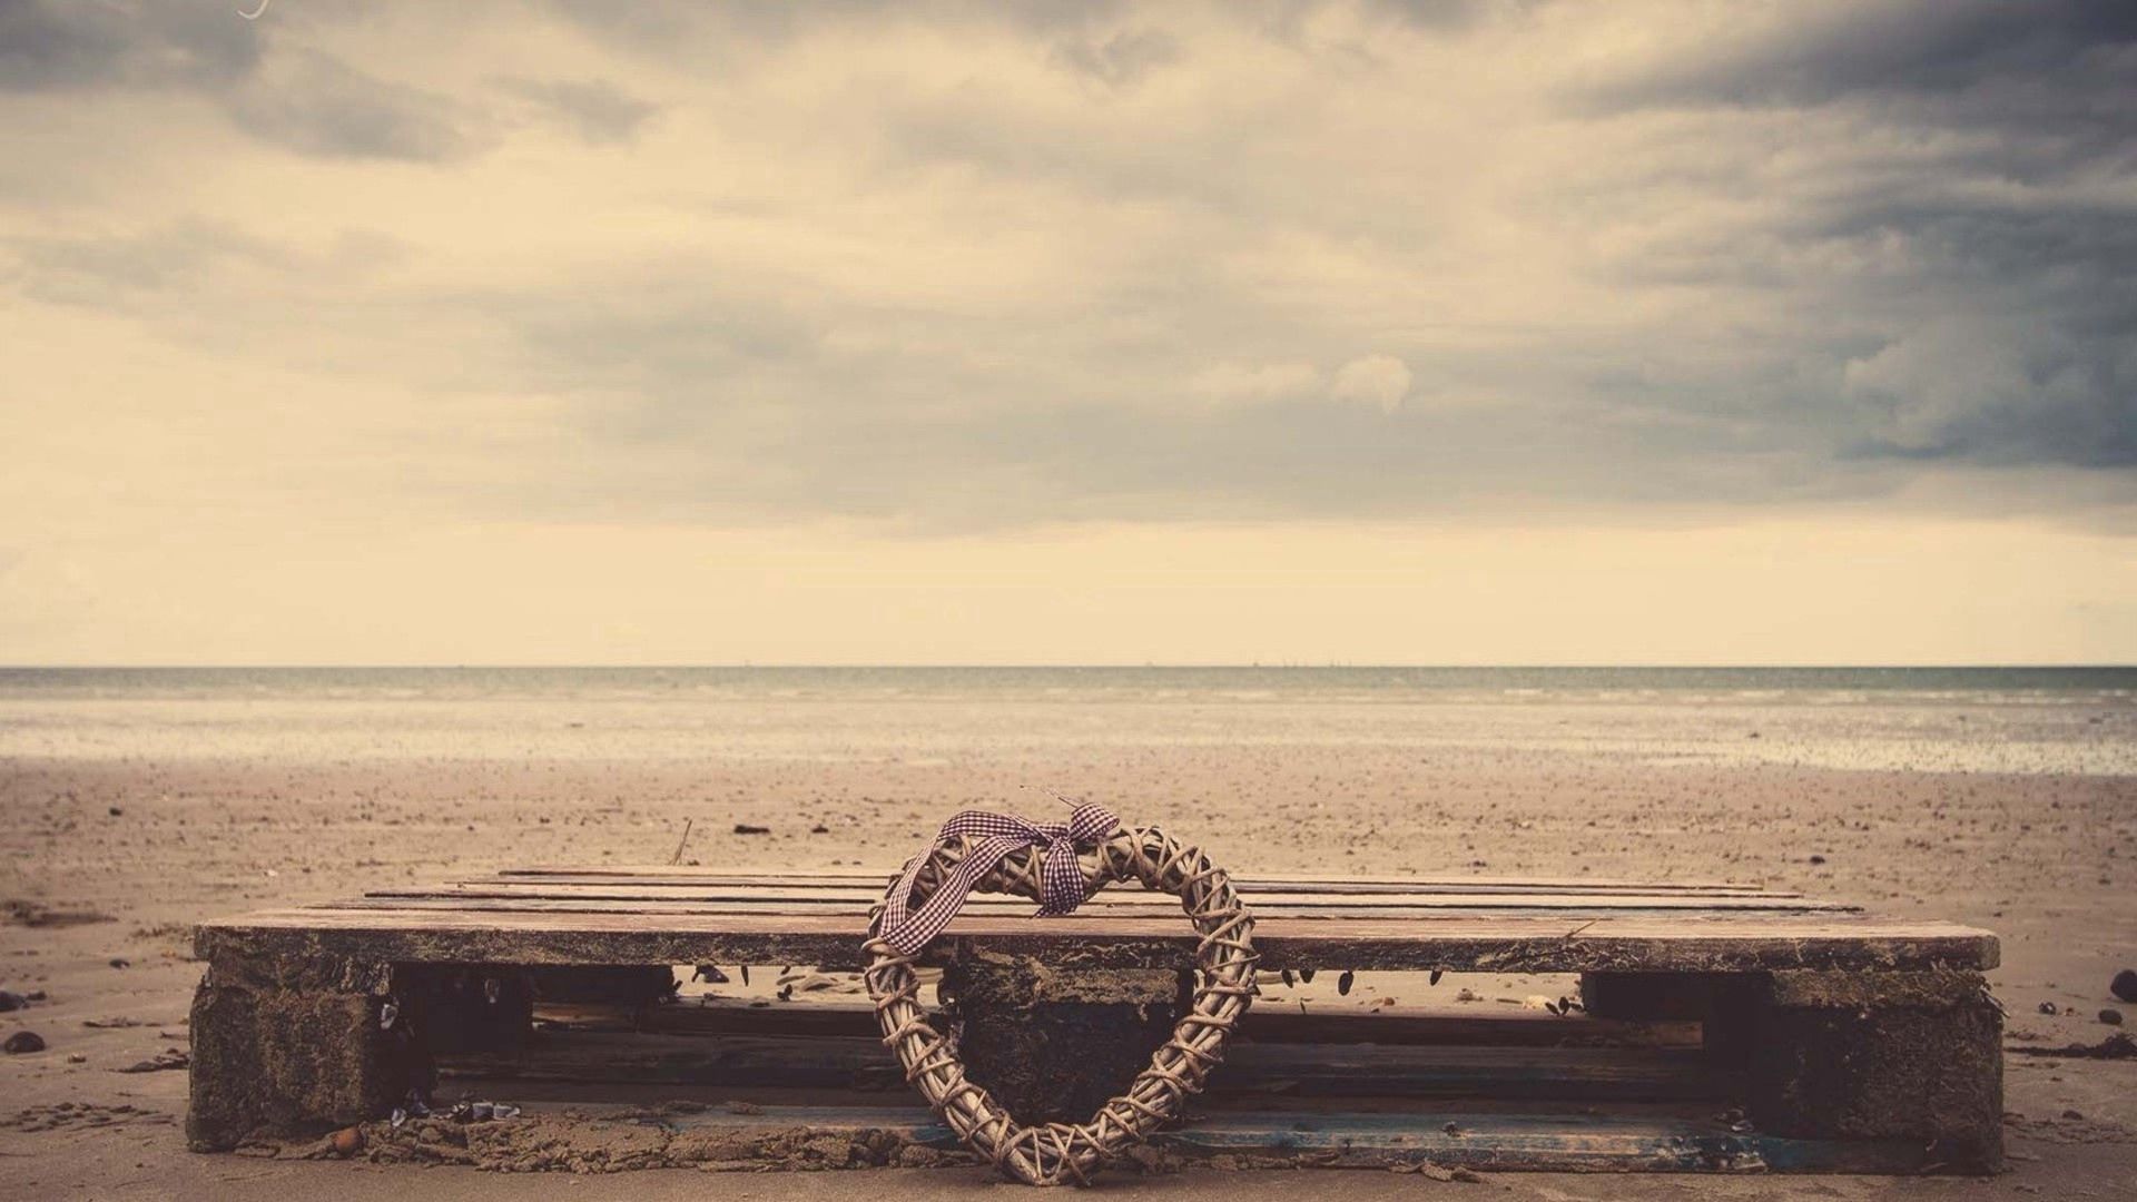
[[1192, 992], [1186, 969], [1049, 967], [968, 954], [942, 969], [957, 1050], [1017, 1123], [1081, 1123], [1126, 1093]]

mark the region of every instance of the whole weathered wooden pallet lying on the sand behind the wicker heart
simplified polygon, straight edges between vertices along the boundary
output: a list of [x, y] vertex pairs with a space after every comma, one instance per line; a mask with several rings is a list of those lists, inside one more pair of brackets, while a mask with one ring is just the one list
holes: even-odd
[[[887, 877], [524, 868], [205, 924], [188, 1134], [227, 1149], [259, 1129], [340, 1125], [442, 1074], [492, 1093], [735, 1097], [780, 1082], [868, 1099], [840, 1121], [927, 1144], [923, 1121], [898, 1116], [910, 1095], [865, 999], [652, 997], [667, 965], [857, 967]], [[1985, 930], [1718, 881], [1246, 877], [1239, 890], [1267, 971], [1579, 973], [1588, 1012], [1263, 1005], [1212, 1084], [1220, 1119], [1169, 1136], [1180, 1151], [1624, 1170], [1979, 1172], [2000, 1159]], [[930, 947], [974, 1078], [996, 1074], [1019, 1114], [1103, 1097], [1109, 1074], [1133, 1069], [1171, 1020], [1195, 941], [1173, 898], [1141, 890], [1105, 890], [1066, 918], [1030, 909], [972, 898]], [[1032, 971], [1068, 962], [1073, 995]], [[1584, 1112], [1594, 1104], [1616, 1116]], [[810, 1106], [780, 1112], [831, 1123]], [[1727, 1112], [1748, 1127], [1714, 1119]], [[1457, 1144], [1449, 1121], [1466, 1129]]]

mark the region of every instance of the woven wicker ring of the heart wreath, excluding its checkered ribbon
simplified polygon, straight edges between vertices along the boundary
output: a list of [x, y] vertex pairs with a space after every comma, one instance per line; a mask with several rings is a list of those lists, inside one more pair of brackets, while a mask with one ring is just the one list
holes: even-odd
[[[972, 841], [949, 838], [921, 866], [915, 900], [934, 896], [942, 879], [970, 853]], [[974, 892], [1039, 898], [1043, 851], [1021, 847], [979, 879]], [[1195, 847], [1182, 847], [1158, 828], [1122, 830], [1077, 853], [1083, 894], [1111, 881], [1141, 881], [1180, 898], [1201, 937], [1195, 945], [1195, 999], [1171, 1039], [1150, 1057], [1126, 1093], [1109, 1099], [1088, 1123], [1024, 1127], [1002, 1110], [985, 1087], [964, 1076], [951, 1039], [927, 1024], [919, 1003], [919, 977], [904, 956], [880, 939], [883, 905], [868, 918], [868, 995], [876, 1003], [883, 1044], [898, 1052], [906, 1080], [921, 1091], [936, 1114], [972, 1151], [994, 1161], [1011, 1181], [1026, 1185], [1086, 1185], [1092, 1172], [1160, 1125], [1180, 1116], [1190, 1093], [1201, 1093], [1210, 1069], [1225, 1054], [1225, 1037], [1254, 999], [1254, 915], [1231, 888], [1231, 877]], [[891, 879], [898, 888], [898, 877]]]

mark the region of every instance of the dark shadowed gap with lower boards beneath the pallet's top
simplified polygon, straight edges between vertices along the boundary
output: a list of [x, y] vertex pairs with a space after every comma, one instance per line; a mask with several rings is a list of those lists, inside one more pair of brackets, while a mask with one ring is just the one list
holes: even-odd
[[[444, 1054], [438, 1078], [440, 1097], [511, 1099], [594, 1129], [656, 1129], [673, 1149], [662, 1164], [688, 1164], [697, 1146], [793, 1149], [797, 1134], [804, 1149], [844, 1140], [855, 1151], [833, 1153], [840, 1166], [900, 1164], [859, 1151], [870, 1146], [962, 1151], [912, 1104], [865, 1003], [846, 999], [536, 1005], [521, 1046]], [[1742, 1089], [1744, 1074], [1718, 1067], [1699, 1022], [1686, 1020], [1265, 1012], [1248, 1016], [1190, 1119], [1152, 1146], [1171, 1164], [1227, 1168], [1949, 1168], [1925, 1140], [1757, 1131], [1735, 1101]]]

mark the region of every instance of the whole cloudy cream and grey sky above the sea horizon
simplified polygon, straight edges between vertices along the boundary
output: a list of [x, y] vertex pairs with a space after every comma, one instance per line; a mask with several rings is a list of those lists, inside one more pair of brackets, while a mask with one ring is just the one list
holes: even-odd
[[0, 661], [2137, 661], [2137, 4], [0, 0]]

